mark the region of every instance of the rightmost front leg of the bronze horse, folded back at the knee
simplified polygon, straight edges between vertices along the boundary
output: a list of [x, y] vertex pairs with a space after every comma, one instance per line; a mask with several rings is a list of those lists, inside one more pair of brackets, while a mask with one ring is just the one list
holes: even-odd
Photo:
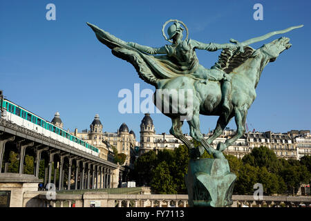
[[232, 145], [238, 138], [242, 137], [245, 133], [245, 120], [247, 115], [247, 109], [245, 108], [234, 108], [234, 117], [236, 121], [236, 135], [226, 140], [224, 143], [219, 143], [217, 146], [218, 151], [224, 151], [228, 146]]

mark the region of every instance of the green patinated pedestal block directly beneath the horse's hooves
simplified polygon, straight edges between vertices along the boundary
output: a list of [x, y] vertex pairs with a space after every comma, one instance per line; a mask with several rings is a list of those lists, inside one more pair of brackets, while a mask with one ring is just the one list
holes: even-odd
[[232, 205], [236, 175], [225, 159], [191, 159], [185, 175], [189, 206], [224, 207]]

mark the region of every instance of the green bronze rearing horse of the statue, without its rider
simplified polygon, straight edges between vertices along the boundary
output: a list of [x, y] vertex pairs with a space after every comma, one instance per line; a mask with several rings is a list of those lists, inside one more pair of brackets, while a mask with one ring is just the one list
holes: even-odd
[[[289, 42], [289, 38], [281, 37], [269, 44], [263, 45], [257, 50], [254, 50], [250, 46], [245, 46], [243, 53], [238, 52], [232, 55], [233, 53], [230, 50], [223, 50], [221, 52], [218, 62], [212, 68], [224, 70], [225, 73], [232, 77], [230, 113], [227, 117], [221, 108], [222, 96], [220, 82], [218, 81], [202, 82], [188, 76], [180, 76], [173, 79], [161, 79], [156, 88], [161, 90], [179, 88], [195, 91], [192, 96], [192, 117], [187, 121], [190, 136], [200, 142], [207, 152], [213, 154], [214, 157], [224, 158], [221, 152], [245, 133], [247, 111], [254, 102], [254, 99], [256, 99], [256, 87], [263, 68], [268, 63], [275, 61], [281, 52], [290, 48], [292, 45]], [[156, 93], [154, 96], [156, 97]], [[154, 103], [156, 104], [156, 99]], [[170, 103], [170, 106], [173, 106], [173, 104]], [[164, 113], [163, 110], [161, 111]], [[200, 114], [219, 116], [214, 133], [207, 140], [205, 140], [200, 131]], [[164, 115], [171, 117], [172, 126], [169, 132], [174, 137], [182, 140], [189, 148], [194, 148], [193, 144], [182, 133], [181, 128], [183, 122], [180, 121], [180, 116], [185, 115], [185, 113], [164, 113]], [[223, 133], [224, 128], [233, 117], [237, 127], [236, 134], [232, 138], [227, 139], [225, 143], [218, 143], [215, 150], [210, 144]], [[204, 149], [200, 148], [199, 151], [199, 153], [194, 152], [196, 157], [199, 156], [198, 154], [202, 155]]]

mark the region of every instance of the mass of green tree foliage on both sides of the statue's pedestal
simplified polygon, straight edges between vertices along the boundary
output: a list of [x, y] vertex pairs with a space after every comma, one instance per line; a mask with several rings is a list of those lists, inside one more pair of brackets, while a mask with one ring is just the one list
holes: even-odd
[[[194, 146], [199, 143], [194, 141]], [[278, 159], [274, 151], [265, 146], [254, 148], [252, 153], [238, 159], [234, 155], [225, 155], [230, 171], [237, 176], [234, 193], [252, 195], [254, 184], [263, 184], [263, 193], [294, 193], [303, 182], [310, 179], [310, 157], [299, 160]], [[213, 158], [206, 151], [200, 158]], [[151, 186], [154, 193], [187, 194], [185, 174], [187, 174], [189, 151], [180, 145], [173, 151], [164, 149], [149, 151], [135, 162], [134, 173], [139, 184]], [[309, 167], [308, 167], [309, 166]]]

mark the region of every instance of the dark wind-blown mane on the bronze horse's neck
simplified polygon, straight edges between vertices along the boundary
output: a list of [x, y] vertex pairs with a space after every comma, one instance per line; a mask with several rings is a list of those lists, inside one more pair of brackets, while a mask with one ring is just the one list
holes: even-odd
[[218, 61], [211, 68], [219, 68], [223, 70], [225, 73], [229, 74], [237, 68], [241, 66], [254, 52], [254, 48], [250, 46], [244, 47], [244, 52], [240, 52], [238, 50], [233, 51], [229, 49], [224, 49], [219, 57]]

